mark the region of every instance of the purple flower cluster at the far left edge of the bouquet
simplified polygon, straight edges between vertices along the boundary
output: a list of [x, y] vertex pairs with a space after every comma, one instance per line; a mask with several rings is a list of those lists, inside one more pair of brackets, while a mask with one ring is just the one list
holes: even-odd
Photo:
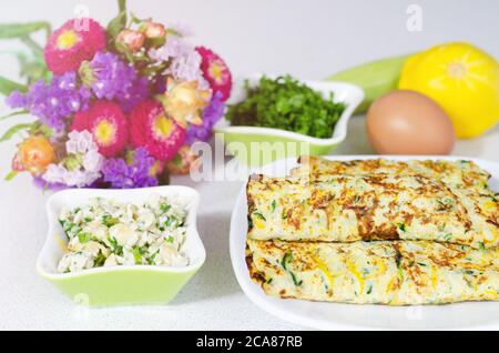
[[34, 82], [26, 94], [13, 91], [6, 102], [13, 109], [27, 109], [39, 117], [41, 123], [62, 131], [71, 115], [88, 109], [89, 100], [90, 90], [79, 88], [77, 73], [70, 71], [54, 75], [49, 83], [43, 80]]

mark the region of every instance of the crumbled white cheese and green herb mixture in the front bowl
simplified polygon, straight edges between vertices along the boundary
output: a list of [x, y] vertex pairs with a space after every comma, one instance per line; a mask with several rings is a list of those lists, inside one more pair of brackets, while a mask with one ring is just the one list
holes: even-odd
[[61, 273], [115, 265], [186, 266], [182, 251], [187, 211], [176, 198], [151, 196], [143, 204], [94, 198], [63, 209], [59, 222], [68, 236]]

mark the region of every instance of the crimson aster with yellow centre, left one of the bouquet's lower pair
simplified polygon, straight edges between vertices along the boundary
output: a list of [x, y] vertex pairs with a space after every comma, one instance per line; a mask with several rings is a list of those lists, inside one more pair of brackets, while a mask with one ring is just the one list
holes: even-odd
[[123, 151], [128, 141], [126, 118], [116, 103], [109, 101], [96, 101], [88, 111], [77, 113], [71, 130], [90, 131], [106, 158]]

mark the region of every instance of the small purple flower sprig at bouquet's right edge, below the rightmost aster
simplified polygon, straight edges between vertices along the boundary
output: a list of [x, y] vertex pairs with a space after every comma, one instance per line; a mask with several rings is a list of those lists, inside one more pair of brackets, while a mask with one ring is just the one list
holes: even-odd
[[210, 140], [213, 127], [224, 114], [225, 103], [222, 95], [221, 92], [215, 92], [210, 105], [203, 110], [203, 123], [201, 125], [191, 124], [187, 129], [187, 138], [185, 140], [187, 144]]

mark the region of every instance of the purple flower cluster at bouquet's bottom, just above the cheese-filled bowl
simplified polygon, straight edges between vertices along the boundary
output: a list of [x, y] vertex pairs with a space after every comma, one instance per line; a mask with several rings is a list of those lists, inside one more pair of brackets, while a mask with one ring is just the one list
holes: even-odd
[[110, 183], [113, 189], [156, 186], [157, 179], [150, 174], [153, 164], [154, 158], [147, 150], [138, 148], [133, 152], [131, 163], [126, 163], [124, 159], [108, 159], [102, 174], [104, 182]]

